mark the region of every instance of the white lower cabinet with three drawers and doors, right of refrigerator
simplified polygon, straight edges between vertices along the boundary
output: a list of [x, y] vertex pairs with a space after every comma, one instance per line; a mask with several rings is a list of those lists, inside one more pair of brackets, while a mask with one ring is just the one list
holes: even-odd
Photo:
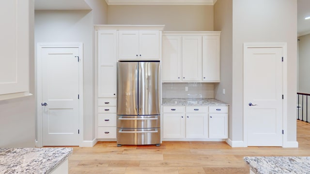
[[164, 106], [163, 138], [169, 140], [228, 138], [227, 111], [227, 106]]

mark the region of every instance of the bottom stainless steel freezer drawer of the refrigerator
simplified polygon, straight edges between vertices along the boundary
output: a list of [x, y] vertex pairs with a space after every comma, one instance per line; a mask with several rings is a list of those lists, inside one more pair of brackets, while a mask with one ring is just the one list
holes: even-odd
[[160, 128], [117, 129], [117, 145], [159, 145]]

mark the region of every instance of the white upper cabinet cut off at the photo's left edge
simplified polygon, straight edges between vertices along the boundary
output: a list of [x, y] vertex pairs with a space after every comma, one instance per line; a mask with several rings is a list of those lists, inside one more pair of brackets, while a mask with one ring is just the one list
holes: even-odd
[[29, 93], [29, 0], [0, 1], [0, 100]]

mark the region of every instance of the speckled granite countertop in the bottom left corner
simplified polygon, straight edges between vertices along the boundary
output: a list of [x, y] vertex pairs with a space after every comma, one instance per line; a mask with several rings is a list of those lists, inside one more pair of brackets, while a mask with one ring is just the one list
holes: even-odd
[[49, 174], [73, 148], [0, 148], [1, 174]]

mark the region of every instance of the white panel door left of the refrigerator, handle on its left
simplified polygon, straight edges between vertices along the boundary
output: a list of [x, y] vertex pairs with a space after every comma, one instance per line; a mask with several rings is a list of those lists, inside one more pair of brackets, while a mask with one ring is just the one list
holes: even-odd
[[79, 145], [77, 56], [78, 48], [42, 49], [43, 146]]

